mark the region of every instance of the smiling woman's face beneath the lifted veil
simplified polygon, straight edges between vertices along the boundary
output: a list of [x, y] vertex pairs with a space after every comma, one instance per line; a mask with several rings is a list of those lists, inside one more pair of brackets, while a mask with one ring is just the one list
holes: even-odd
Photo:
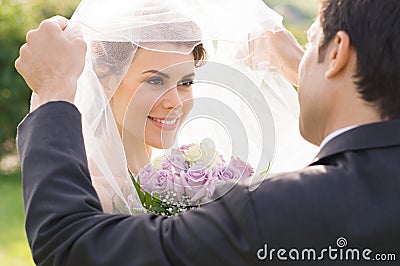
[[193, 79], [192, 54], [138, 49], [111, 100], [124, 145], [172, 146], [193, 107]]

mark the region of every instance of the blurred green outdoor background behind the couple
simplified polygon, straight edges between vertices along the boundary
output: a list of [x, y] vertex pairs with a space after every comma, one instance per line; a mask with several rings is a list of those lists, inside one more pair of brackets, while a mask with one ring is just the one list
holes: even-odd
[[[132, 0], [134, 1], [134, 0]], [[245, 1], [245, 0], [243, 0]], [[315, 0], [264, 0], [305, 44], [316, 16]], [[0, 265], [34, 265], [24, 232], [21, 175], [15, 150], [18, 123], [28, 113], [30, 91], [14, 69], [29, 29], [56, 14], [70, 17], [79, 0], [0, 0]]]

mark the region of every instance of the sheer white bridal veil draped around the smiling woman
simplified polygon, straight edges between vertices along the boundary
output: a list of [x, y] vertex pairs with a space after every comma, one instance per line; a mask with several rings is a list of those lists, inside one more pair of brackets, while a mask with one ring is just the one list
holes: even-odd
[[[137, 47], [190, 53], [201, 42], [207, 50], [209, 63], [198, 69], [196, 78], [200, 82], [193, 88], [193, 117], [197, 119], [189, 117], [179, 133], [179, 145], [211, 138], [225, 158], [235, 155], [248, 160], [256, 173], [266, 170], [269, 164], [271, 171], [280, 171], [300, 168], [311, 161], [316, 150], [299, 135], [295, 90], [270, 65], [268, 50], [252, 45], [263, 32], [281, 29], [282, 17], [261, 0], [80, 3], [67, 28], [71, 36], [79, 30], [88, 44], [75, 104], [82, 114], [92, 182], [105, 212], [144, 211], [128, 173], [124, 147], [109, 104]], [[182, 45], [159, 45], [168, 42]], [[236, 88], [231, 90], [228, 86]], [[210, 106], [204, 99], [213, 99], [207, 101]], [[230, 109], [231, 114], [224, 113], [218, 103]], [[208, 113], [197, 113], [199, 116], [195, 117], [196, 106]], [[223, 125], [225, 115], [232, 114], [235, 121], [240, 121], [240, 125], [233, 124], [234, 129], [230, 128], [232, 122]], [[213, 115], [217, 118], [213, 119]], [[224, 132], [233, 137], [229, 139]]]

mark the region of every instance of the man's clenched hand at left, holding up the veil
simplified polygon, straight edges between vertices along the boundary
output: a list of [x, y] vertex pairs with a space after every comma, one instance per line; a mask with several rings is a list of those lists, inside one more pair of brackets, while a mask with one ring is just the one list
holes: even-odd
[[86, 43], [68, 38], [64, 32], [68, 20], [56, 16], [42, 21], [26, 35], [15, 68], [38, 95], [38, 105], [49, 101], [73, 103], [77, 80], [81, 75]]

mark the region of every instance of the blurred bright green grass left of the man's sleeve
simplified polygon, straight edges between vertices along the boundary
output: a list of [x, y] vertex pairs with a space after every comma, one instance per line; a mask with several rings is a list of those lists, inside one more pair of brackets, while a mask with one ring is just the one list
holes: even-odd
[[0, 265], [32, 266], [24, 229], [21, 174], [0, 174]]

